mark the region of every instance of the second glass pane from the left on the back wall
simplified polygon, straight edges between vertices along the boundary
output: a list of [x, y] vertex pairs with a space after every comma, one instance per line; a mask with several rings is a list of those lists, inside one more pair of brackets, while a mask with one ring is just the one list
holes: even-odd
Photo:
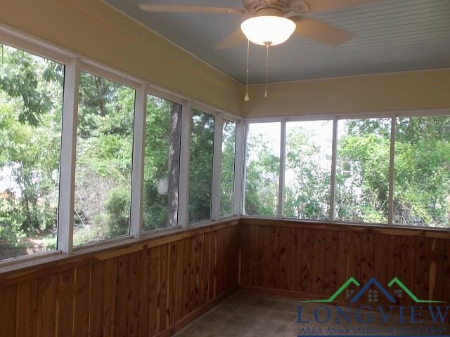
[[328, 219], [333, 121], [286, 123], [284, 216]]

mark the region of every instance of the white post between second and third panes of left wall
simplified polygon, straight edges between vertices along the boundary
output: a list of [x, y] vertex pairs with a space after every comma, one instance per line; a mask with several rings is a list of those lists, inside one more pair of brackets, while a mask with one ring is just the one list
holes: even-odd
[[131, 173], [131, 214], [129, 234], [141, 237], [143, 203], [143, 164], [146, 147], [147, 89], [142, 84], [134, 101], [133, 169]]

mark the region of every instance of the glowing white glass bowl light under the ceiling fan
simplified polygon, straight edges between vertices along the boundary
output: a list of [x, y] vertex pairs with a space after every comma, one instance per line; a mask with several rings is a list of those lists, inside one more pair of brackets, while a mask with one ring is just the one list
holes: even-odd
[[295, 27], [293, 20], [275, 15], [255, 16], [240, 25], [245, 37], [261, 46], [282, 44], [290, 38]]

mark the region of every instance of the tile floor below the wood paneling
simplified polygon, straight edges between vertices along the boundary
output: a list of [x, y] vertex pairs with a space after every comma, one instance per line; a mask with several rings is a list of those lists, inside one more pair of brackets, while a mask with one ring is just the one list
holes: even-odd
[[[302, 328], [305, 326], [312, 327], [312, 324], [297, 323], [297, 305], [298, 301], [290, 298], [238, 291], [174, 336], [296, 337], [304, 335], [306, 331], [302, 331]], [[316, 304], [302, 305], [302, 308], [304, 308], [302, 317], [305, 317], [305, 319], [312, 318]], [[322, 329], [326, 329], [328, 326], [337, 326], [337, 324], [319, 325]], [[316, 324], [316, 327], [319, 325]], [[432, 326], [432, 324], [424, 325]], [[352, 326], [367, 326], [367, 324], [352, 324]], [[373, 319], [370, 326], [387, 328], [387, 325], [384, 325], [380, 319], [377, 322], [376, 318]], [[403, 326], [407, 327], [407, 325]], [[444, 329], [446, 329], [445, 334], [449, 335], [449, 326], [445, 325]], [[313, 335], [328, 334], [324, 330], [323, 333], [318, 333], [318, 331], [314, 333], [309, 331], [309, 333]], [[370, 333], [363, 334], [368, 335]], [[420, 333], [420, 335], [425, 335], [425, 333]], [[345, 336], [345, 334], [342, 334], [342, 336]]]

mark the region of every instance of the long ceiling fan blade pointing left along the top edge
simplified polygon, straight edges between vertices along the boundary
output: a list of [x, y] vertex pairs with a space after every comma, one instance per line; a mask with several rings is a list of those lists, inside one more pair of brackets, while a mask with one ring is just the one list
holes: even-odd
[[210, 13], [210, 14], [243, 14], [239, 8], [212, 6], [191, 6], [184, 4], [139, 4], [143, 11], [165, 13]]

